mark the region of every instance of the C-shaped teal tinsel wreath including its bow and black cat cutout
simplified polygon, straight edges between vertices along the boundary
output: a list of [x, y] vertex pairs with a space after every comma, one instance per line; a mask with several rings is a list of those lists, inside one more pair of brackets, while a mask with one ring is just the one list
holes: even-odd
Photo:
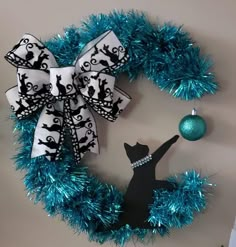
[[[44, 42], [25, 34], [6, 59], [17, 67], [18, 85], [6, 92], [21, 144], [16, 167], [26, 171], [29, 197], [42, 202], [50, 216], [61, 215], [90, 240], [124, 245], [133, 235], [144, 240], [191, 224], [195, 213], [206, 208], [212, 186], [207, 177], [192, 170], [154, 181], [149, 177], [153, 170], [146, 172], [155, 169], [178, 136], [152, 155], [146, 145], [125, 144], [134, 176], [145, 169], [145, 181], [155, 182], [147, 184], [148, 198], [140, 196], [147, 202], [152, 198], [145, 209], [142, 201], [135, 201], [140, 179], [133, 177], [124, 194], [92, 175], [81, 160], [87, 151], [99, 151], [92, 111], [115, 121], [131, 100], [115, 85], [120, 73], [127, 73], [130, 81], [144, 74], [182, 100], [217, 91], [210, 59], [182, 27], [158, 26], [134, 11], [92, 15], [81, 27], [69, 27]], [[132, 216], [127, 213], [130, 201], [139, 208]], [[145, 222], [138, 222], [147, 209]]]

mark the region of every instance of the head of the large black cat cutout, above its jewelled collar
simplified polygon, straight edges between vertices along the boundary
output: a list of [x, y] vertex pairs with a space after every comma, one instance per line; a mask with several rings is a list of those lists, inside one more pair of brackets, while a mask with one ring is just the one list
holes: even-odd
[[131, 163], [144, 158], [149, 153], [149, 147], [138, 142], [134, 146], [124, 143], [124, 147]]

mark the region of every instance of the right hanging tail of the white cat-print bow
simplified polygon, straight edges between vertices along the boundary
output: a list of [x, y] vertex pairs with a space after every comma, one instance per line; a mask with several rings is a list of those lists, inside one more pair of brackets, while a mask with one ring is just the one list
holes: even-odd
[[65, 101], [65, 112], [75, 159], [79, 162], [86, 152], [99, 153], [96, 123], [82, 96]]

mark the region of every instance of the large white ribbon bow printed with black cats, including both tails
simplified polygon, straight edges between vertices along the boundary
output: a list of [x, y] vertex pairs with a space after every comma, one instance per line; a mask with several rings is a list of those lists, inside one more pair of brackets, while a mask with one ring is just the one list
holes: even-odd
[[129, 56], [113, 31], [89, 42], [73, 66], [59, 68], [53, 54], [34, 36], [25, 34], [5, 56], [17, 67], [17, 86], [6, 92], [18, 119], [42, 108], [34, 134], [31, 157], [59, 159], [69, 130], [75, 159], [98, 153], [95, 119], [91, 109], [115, 121], [131, 98], [115, 87], [112, 72]]

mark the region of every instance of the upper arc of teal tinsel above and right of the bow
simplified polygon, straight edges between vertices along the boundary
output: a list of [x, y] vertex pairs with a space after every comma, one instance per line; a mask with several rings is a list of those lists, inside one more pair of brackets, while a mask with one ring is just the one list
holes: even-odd
[[127, 72], [130, 80], [140, 74], [182, 100], [214, 94], [218, 85], [210, 72], [212, 61], [182, 27], [152, 24], [143, 13], [112, 12], [91, 15], [79, 28], [65, 29], [46, 42], [60, 66], [71, 65], [92, 39], [112, 29], [127, 47], [130, 59], [117, 73]]

